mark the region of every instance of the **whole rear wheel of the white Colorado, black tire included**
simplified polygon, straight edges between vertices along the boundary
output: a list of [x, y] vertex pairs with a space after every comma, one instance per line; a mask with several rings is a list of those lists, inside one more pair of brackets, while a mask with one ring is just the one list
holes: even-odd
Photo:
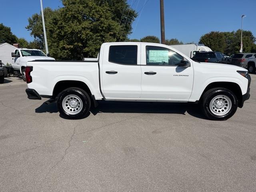
[[[66, 98], [72, 98], [74, 100], [74, 102], [76, 102], [75, 98], [78, 99], [77, 106], [75, 106], [75, 107], [72, 106], [72, 107], [74, 107], [74, 108], [72, 108], [70, 105], [71, 100], [69, 103], [66, 104], [65, 103]], [[80, 101], [82, 104], [80, 104], [80, 102], [78, 102], [78, 101]], [[79, 106], [79, 104], [80, 104], [80, 106]], [[68, 105], [68, 106], [65, 107], [65, 105]], [[78, 106], [81, 108], [79, 108], [79, 109], [76, 108]], [[65, 89], [60, 94], [58, 94], [57, 107], [58, 107], [58, 110], [62, 117], [68, 118], [68, 119], [80, 119], [80, 118], [85, 117], [86, 114], [88, 114], [90, 107], [91, 107], [91, 100], [90, 100], [89, 95], [84, 90], [82, 90], [80, 88], [72, 87], [72, 88]], [[70, 108], [68, 108], [68, 107], [70, 107]], [[69, 112], [69, 111], [67, 112], [67, 110], [70, 110], [71, 112]], [[72, 114], [72, 110], [78, 110], [78, 111], [80, 110], [80, 112], [78, 112], [77, 114]]]

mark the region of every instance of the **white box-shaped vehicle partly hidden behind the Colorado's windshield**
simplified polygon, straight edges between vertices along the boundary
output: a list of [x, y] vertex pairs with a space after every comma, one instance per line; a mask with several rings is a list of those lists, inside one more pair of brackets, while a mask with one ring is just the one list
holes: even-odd
[[170, 45], [170, 47], [182, 52], [189, 58], [192, 58], [196, 55], [197, 52], [208, 52], [212, 51], [209, 47], [205, 46], [204, 44], [185, 44], [185, 45]]

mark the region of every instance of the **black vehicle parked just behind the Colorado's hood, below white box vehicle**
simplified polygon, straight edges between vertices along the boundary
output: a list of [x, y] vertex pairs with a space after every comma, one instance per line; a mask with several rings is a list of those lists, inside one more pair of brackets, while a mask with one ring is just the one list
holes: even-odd
[[192, 58], [196, 62], [224, 63], [224, 56], [221, 52], [197, 52]]

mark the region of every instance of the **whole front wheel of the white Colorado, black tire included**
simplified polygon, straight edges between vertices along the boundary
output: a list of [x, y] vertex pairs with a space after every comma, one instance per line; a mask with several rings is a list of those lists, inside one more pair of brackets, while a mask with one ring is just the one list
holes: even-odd
[[[214, 101], [215, 103], [216, 101], [220, 102], [220, 104], [223, 105], [222, 106], [223, 108], [218, 108], [219, 106], [217, 106], [216, 108], [216, 106], [213, 104], [214, 101], [212, 102], [212, 100], [218, 96], [220, 96], [221, 98], [219, 99], [217, 98]], [[231, 103], [231, 105], [228, 105], [229, 103]], [[228, 107], [226, 107], [226, 105]], [[213, 88], [204, 93], [204, 95], [202, 96], [202, 99], [200, 100], [200, 106], [204, 115], [210, 120], [227, 120], [228, 118], [232, 117], [235, 114], [238, 107], [238, 100], [236, 98], [236, 95], [228, 89]], [[224, 112], [222, 112], [222, 110]], [[224, 114], [225, 110], [226, 110], [226, 114]], [[215, 113], [218, 113], [218, 115], [214, 114], [213, 111]]]

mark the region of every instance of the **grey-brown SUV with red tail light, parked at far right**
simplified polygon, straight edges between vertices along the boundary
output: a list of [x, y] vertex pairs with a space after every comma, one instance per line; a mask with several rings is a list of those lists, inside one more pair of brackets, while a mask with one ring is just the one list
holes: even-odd
[[230, 63], [232, 65], [240, 66], [245, 69], [248, 68], [248, 58], [254, 56], [256, 53], [236, 53], [231, 58]]

